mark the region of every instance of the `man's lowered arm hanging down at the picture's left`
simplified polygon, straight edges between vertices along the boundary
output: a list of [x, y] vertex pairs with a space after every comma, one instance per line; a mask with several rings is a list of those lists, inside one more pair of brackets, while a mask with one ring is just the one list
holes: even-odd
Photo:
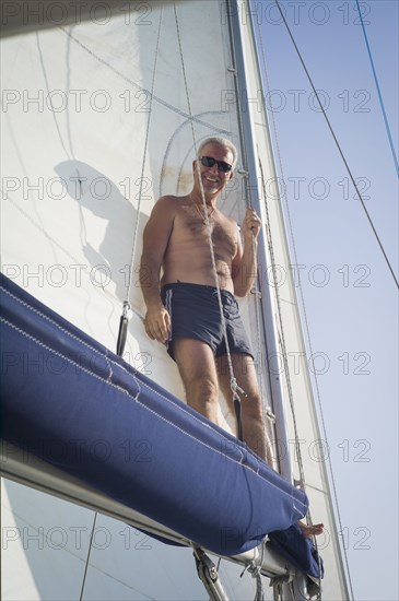
[[152, 340], [165, 342], [171, 317], [161, 300], [161, 268], [173, 228], [174, 204], [171, 197], [161, 198], [152, 210], [143, 232], [140, 285], [146, 305], [145, 331]]

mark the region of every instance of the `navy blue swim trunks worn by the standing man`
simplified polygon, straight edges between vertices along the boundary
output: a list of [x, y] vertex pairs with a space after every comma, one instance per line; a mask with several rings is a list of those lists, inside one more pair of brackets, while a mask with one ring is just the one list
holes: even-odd
[[[177, 282], [162, 286], [161, 297], [172, 318], [167, 352], [173, 360], [176, 338], [201, 340], [210, 345], [216, 357], [226, 354], [216, 287]], [[237, 300], [226, 290], [221, 290], [221, 297], [230, 352], [254, 358]]]

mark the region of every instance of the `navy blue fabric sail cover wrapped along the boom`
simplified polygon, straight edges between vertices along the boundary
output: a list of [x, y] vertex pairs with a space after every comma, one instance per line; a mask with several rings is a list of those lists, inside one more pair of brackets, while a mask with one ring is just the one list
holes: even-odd
[[0, 284], [5, 440], [216, 554], [248, 551], [305, 516], [305, 493], [245, 444]]

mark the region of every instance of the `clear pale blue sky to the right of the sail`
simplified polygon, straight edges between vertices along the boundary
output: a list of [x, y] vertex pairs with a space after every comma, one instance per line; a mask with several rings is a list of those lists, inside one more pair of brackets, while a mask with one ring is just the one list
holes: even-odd
[[[397, 287], [277, 9], [258, 5], [354, 598], [397, 600]], [[356, 3], [282, 5], [398, 273], [398, 178]], [[360, 7], [398, 152], [399, 4]]]

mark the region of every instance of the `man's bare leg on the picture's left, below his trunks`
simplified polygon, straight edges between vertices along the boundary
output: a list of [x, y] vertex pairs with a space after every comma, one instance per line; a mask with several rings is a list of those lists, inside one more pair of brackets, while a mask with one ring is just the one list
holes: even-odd
[[219, 384], [212, 349], [199, 340], [178, 338], [174, 353], [187, 403], [218, 424]]

